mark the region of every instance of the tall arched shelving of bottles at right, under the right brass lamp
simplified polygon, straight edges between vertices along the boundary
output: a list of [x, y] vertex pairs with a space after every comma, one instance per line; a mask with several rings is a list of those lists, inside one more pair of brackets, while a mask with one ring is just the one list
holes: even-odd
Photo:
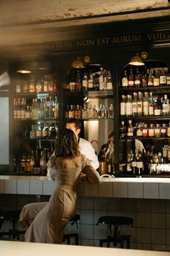
[[120, 145], [126, 163], [122, 159], [120, 172], [127, 174], [170, 174], [170, 69], [153, 65], [130, 66], [122, 74]]

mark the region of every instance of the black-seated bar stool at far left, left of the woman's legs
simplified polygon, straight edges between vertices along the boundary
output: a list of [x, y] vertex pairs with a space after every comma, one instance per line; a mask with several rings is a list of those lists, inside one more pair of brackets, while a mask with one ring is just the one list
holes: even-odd
[[4, 236], [9, 236], [9, 239], [19, 240], [19, 236], [24, 234], [25, 231], [17, 229], [17, 222], [21, 210], [1, 210], [0, 209], [0, 230], [4, 221], [12, 221], [12, 229], [8, 231], [0, 231], [0, 239]]

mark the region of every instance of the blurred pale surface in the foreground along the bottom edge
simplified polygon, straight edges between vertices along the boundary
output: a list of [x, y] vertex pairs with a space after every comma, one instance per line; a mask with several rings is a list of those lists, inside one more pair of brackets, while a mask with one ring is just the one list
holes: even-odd
[[136, 249], [116, 249], [104, 247], [85, 247], [63, 244], [37, 244], [27, 242], [9, 242], [0, 241], [1, 255], [3, 256], [46, 256], [46, 255], [70, 255], [70, 256], [84, 256], [84, 255], [98, 255], [98, 256], [169, 256], [170, 252], [156, 252]]

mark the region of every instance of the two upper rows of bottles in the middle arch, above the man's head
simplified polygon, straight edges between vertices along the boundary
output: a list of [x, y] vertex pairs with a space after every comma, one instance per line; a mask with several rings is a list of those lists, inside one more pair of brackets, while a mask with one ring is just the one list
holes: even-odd
[[[84, 69], [73, 69], [68, 76], [67, 91], [71, 93], [81, 92], [84, 104], [66, 105], [65, 118], [83, 120], [112, 119], [113, 104], [91, 105], [89, 98], [107, 98], [113, 95], [112, 77], [109, 70], [101, 65], [88, 65]], [[73, 98], [74, 101], [74, 98]]]

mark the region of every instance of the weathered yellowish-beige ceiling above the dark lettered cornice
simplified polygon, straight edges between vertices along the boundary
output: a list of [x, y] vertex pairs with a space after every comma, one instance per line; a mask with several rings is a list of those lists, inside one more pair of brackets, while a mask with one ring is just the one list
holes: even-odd
[[4, 47], [57, 38], [58, 30], [69, 26], [170, 17], [170, 4], [168, 0], [1, 0], [0, 12], [0, 47]]

